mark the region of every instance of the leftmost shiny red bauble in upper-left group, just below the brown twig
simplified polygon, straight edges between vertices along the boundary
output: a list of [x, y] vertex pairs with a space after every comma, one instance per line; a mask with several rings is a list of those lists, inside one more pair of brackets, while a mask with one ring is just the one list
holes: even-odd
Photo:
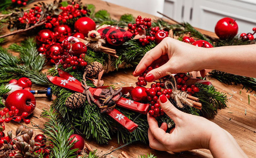
[[36, 36], [36, 42], [38, 45], [41, 44], [50, 44], [56, 41], [54, 33], [49, 29], [43, 29], [38, 32]]

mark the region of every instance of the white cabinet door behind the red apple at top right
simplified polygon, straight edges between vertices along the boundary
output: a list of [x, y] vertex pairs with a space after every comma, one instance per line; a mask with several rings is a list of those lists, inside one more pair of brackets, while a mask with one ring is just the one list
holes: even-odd
[[236, 19], [238, 34], [252, 32], [256, 27], [256, 1], [252, 0], [194, 0], [191, 24], [214, 32], [219, 19]]

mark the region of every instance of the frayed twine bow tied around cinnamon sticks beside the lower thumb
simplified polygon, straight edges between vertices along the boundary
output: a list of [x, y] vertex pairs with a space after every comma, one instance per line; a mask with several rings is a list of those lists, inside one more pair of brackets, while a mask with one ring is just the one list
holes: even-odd
[[190, 103], [187, 100], [188, 93], [178, 90], [177, 89], [177, 83], [176, 83], [176, 80], [175, 80], [174, 76], [170, 72], [166, 72], [166, 74], [172, 76], [172, 78], [173, 78], [174, 85], [173, 85], [172, 82], [166, 81], [165, 82], [165, 87], [166, 87], [166, 89], [169, 89], [168, 85], [172, 86], [171, 98], [176, 102], [177, 106], [179, 108], [183, 108], [184, 107], [183, 104], [186, 104], [186, 105], [189, 105], [189, 106], [193, 107], [193, 104]]

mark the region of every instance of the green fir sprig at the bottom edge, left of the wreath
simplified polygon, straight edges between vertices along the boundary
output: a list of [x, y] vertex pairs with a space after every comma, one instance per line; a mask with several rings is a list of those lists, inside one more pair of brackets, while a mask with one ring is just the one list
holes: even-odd
[[70, 148], [76, 141], [69, 145], [72, 139], [68, 140], [70, 135], [74, 132], [71, 128], [71, 124], [69, 122], [65, 124], [61, 122], [61, 117], [53, 108], [49, 108], [49, 110], [43, 109], [41, 117], [49, 119], [49, 121], [44, 124], [44, 129], [42, 130], [47, 136], [50, 145], [53, 145], [52, 148], [49, 148], [51, 151], [50, 157], [75, 158], [75, 152], [78, 149], [70, 150]]

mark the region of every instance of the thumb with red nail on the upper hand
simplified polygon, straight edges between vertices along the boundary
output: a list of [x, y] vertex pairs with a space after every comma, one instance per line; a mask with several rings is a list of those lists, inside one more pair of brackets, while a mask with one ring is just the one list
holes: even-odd
[[153, 82], [161, 77], [166, 76], [166, 72], [168, 71], [170, 71], [169, 62], [165, 63], [164, 65], [156, 69], [149, 71], [145, 79], [147, 82]]

